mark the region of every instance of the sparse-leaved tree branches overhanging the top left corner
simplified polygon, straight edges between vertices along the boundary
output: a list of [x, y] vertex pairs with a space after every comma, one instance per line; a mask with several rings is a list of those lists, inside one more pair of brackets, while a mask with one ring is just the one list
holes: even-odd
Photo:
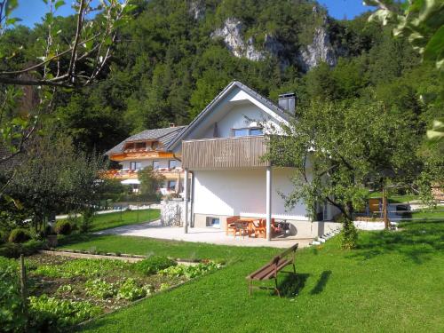
[[[11, 61], [20, 62], [22, 58], [18, 55], [24, 53], [23, 49], [31, 52], [23, 45], [12, 45], [7, 53], [0, 53], [0, 83], [6, 85], [0, 93], [0, 147], [8, 152], [0, 156], [0, 163], [19, 155], [38, 130], [40, 118], [52, 113], [56, 88], [81, 88], [98, 80], [111, 57], [117, 28], [128, 20], [134, 8], [127, 0], [101, 0], [98, 7], [92, 7], [91, 0], [76, 0], [75, 27], [69, 29], [63, 27], [64, 20], [55, 17], [65, 2], [43, 1], [49, 11], [39, 26], [42, 38], [32, 44], [37, 50], [33, 57], [24, 57], [23, 63]], [[0, 38], [7, 36], [8, 29], [20, 21], [12, 17], [18, 5], [18, 0], [0, 1]], [[94, 20], [87, 19], [94, 14], [97, 14]], [[38, 95], [36, 103], [19, 115], [8, 116], [11, 108], [22, 103], [24, 86], [38, 86], [33, 91]]]

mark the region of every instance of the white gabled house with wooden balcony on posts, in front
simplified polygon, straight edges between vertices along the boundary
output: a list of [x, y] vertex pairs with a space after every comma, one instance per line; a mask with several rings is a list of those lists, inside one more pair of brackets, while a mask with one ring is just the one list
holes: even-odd
[[[191, 204], [186, 210], [189, 226], [226, 226], [226, 218], [266, 218], [271, 234], [272, 218], [286, 220], [298, 237], [323, 234], [336, 210], [318, 206], [317, 221], [307, 218], [303, 202], [287, 210], [281, 194], [293, 185], [292, 168], [275, 168], [261, 159], [266, 152], [266, 131], [279, 130], [295, 110], [295, 95], [281, 95], [279, 106], [246, 85], [226, 86], [192, 123], [170, 141], [167, 151], [180, 156], [185, 191]], [[188, 206], [187, 206], [188, 207]], [[187, 227], [187, 224], [186, 224]], [[335, 226], [336, 227], [336, 226]]]

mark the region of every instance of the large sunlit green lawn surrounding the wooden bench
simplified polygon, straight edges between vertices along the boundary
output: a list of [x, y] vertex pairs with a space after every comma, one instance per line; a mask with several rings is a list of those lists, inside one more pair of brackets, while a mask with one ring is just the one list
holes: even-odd
[[87, 332], [443, 332], [444, 223], [410, 222], [399, 232], [361, 233], [359, 249], [337, 238], [297, 251], [297, 281], [286, 297], [245, 276], [279, 250], [137, 237], [96, 236], [69, 248], [225, 258], [227, 265], [137, 305], [92, 321]]

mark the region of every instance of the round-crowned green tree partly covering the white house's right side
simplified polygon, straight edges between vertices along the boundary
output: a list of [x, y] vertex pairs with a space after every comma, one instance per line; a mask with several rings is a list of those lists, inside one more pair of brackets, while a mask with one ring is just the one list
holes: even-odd
[[294, 191], [282, 194], [288, 207], [305, 202], [312, 218], [328, 202], [344, 218], [343, 246], [356, 245], [353, 217], [369, 187], [408, 183], [417, 172], [416, 139], [405, 123], [381, 103], [314, 102], [269, 141], [266, 158], [293, 166]]

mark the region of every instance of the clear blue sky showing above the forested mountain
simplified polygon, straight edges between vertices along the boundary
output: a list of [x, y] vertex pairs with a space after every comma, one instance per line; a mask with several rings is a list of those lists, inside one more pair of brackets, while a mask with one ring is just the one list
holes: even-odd
[[[72, 0], [65, 0], [67, 4], [59, 7], [56, 12], [58, 15], [69, 15], [73, 13], [71, 8]], [[93, 3], [97, 4], [97, 0]], [[362, 4], [362, 0], [318, 0], [320, 4], [327, 7], [329, 15], [338, 20], [353, 19], [362, 12], [369, 11], [369, 7]], [[40, 22], [44, 13], [48, 11], [48, 7], [43, 0], [19, 0], [19, 7], [12, 13], [13, 17], [18, 17], [23, 25], [33, 27], [34, 24]]]

